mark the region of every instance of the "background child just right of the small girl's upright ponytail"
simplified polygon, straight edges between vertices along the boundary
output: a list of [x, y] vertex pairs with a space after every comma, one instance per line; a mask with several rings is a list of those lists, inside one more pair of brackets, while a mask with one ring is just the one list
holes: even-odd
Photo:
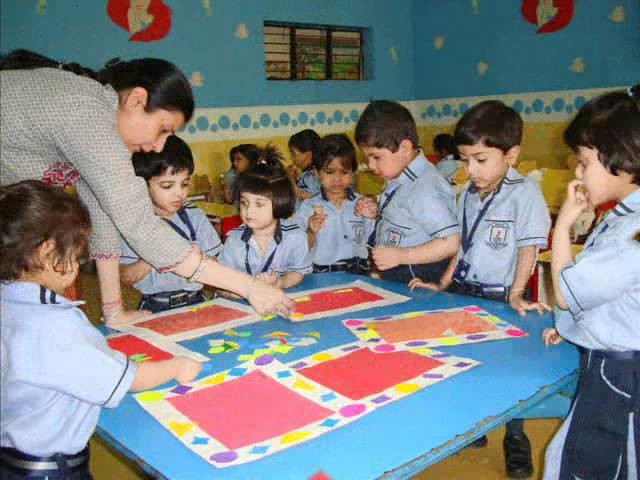
[[296, 183], [296, 198], [299, 201], [313, 197], [320, 192], [320, 180], [313, 168], [313, 151], [320, 141], [320, 135], [307, 128], [289, 138], [289, 153], [293, 160], [293, 180]]

